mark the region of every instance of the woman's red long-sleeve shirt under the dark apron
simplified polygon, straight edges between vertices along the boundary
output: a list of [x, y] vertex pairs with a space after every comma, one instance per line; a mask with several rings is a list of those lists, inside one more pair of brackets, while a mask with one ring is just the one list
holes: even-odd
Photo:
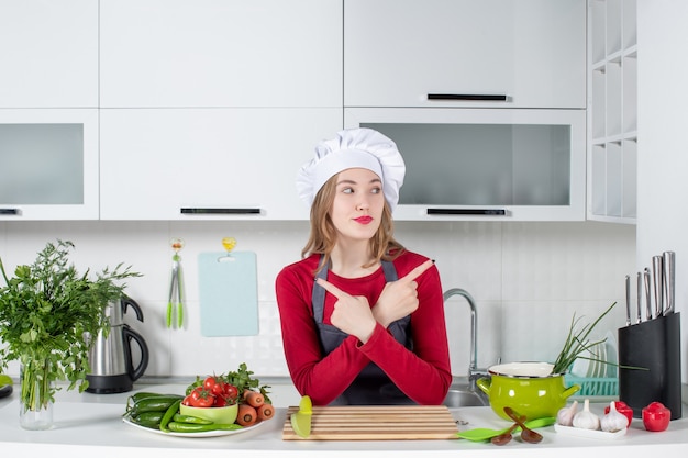
[[[419, 308], [411, 314], [413, 351], [378, 324], [366, 344], [348, 336], [342, 345], [323, 356], [311, 305], [319, 259], [319, 255], [312, 255], [289, 265], [276, 280], [285, 356], [297, 390], [302, 395], [308, 394], [317, 405], [329, 404], [373, 361], [414, 402], [441, 404], [452, 382], [452, 372], [442, 284], [436, 267], [415, 279]], [[398, 277], [404, 277], [426, 259], [404, 252], [393, 261]], [[371, 306], [386, 283], [381, 268], [355, 279], [329, 272], [328, 281], [352, 295], [365, 295]], [[331, 324], [335, 301], [332, 294], [325, 295], [323, 322], [326, 324]]]

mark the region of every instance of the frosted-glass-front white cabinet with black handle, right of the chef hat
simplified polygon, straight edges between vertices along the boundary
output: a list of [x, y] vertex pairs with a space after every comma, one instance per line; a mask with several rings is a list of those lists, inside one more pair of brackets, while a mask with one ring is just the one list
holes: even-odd
[[400, 221], [584, 221], [585, 110], [346, 108], [392, 138]]

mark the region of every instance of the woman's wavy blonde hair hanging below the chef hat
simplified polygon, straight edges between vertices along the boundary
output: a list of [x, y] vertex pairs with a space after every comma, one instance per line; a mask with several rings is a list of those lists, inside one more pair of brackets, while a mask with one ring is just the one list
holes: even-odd
[[[330, 209], [332, 209], [336, 192], [336, 177], [335, 175], [330, 178], [315, 194], [311, 205], [311, 233], [301, 250], [301, 257], [313, 254], [323, 255], [317, 272], [330, 264], [330, 254], [336, 244], [336, 228], [330, 217]], [[395, 223], [391, 210], [387, 201], [385, 201], [380, 225], [369, 241], [370, 253], [375, 260], [370, 265], [363, 267], [370, 267], [380, 260], [393, 260], [404, 250], [404, 247], [395, 239], [393, 232]]]

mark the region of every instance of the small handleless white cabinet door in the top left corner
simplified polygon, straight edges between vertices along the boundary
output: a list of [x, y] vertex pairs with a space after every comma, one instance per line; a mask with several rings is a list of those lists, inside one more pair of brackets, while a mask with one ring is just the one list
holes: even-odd
[[0, 108], [98, 105], [98, 2], [0, 0]]

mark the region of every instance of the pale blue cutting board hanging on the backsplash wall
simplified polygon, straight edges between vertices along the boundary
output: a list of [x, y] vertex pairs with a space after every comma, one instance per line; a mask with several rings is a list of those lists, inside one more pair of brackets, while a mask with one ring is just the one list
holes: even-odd
[[258, 334], [256, 254], [198, 255], [201, 334], [207, 337]]

